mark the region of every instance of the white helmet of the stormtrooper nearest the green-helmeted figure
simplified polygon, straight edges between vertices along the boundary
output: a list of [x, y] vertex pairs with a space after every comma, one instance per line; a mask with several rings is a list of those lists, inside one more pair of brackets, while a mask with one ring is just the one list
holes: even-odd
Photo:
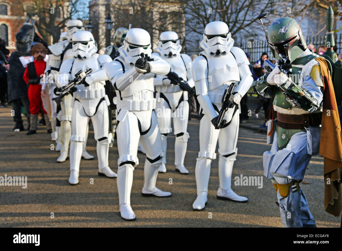
[[221, 53], [225, 55], [231, 50], [233, 44], [234, 40], [228, 25], [221, 21], [214, 21], [207, 24], [200, 46], [208, 55], [214, 56]]

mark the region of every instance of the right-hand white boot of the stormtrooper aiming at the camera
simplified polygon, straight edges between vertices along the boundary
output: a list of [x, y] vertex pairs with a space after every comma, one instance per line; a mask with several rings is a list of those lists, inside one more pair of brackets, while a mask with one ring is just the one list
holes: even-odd
[[141, 192], [141, 195], [143, 197], [150, 197], [150, 196], [169, 197], [171, 196], [170, 192], [161, 191], [160, 189], [156, 187], [158, 169], [161, 163], [162, 163], [161, 159], [154, 163], [150, 163], [148, 159], [146, 158], [145, 166], [144, 166], [144, 186]]

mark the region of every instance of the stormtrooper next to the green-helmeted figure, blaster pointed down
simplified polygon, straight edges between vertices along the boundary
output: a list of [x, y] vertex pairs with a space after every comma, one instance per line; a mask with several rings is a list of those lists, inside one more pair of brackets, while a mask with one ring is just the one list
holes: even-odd
[[[208, 182], [211, 161], [216, 158], [216, 143], [219, 140], [219, 189], [218, 199], [247, 202], [231, 189], [232, 169], [237, 155], [239, 130], [239, 103], [250, 88], [253, 78], [245, 53], [233, 47], [228, 26], [224, 22], [209, 23], [203, 34], [200, 46], [204, 49], [194, 59], [192, 76], [195, 81], [196, 95], [203, 117], [199, 127], [200, 151], [196, 159], [197, 198], [194, 210], [202, 210], [207, 204]], [[235, 82], [234, 108], [228, 108], [221, 129], [215, 129], [214, 122], [222, 105], [224, 90]]]

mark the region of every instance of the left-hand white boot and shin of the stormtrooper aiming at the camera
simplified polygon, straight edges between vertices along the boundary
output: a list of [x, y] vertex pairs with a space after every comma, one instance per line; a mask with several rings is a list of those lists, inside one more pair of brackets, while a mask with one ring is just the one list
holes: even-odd
[[131, 221], [135, 219], [135, 214], [131, 207], [131, 189], [133, 183], [134, 167], [131, 164], [124, 164], [118, 168], [119, 210], [121, 218]]

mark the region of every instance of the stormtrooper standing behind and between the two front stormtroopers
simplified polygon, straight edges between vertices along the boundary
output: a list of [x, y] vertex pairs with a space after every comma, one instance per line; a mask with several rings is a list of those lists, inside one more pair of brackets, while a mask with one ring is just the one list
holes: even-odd
[[[157, 55], [167, 61], [171, 71], [180, 76], [190, 87], [195, 83], [192, 79], [192, 60], [186, 54], [180, 54], [182, 46], [180, 45], [178, 35], [174, 31], [165, 31], [160, 34]], [[171, 81], [165, 75], [156, 74], [154, 78], [156, 88], [156, 112], [160, 127], [161, 139], [163, 142], [163, 163], [159, 167], [159, 172], [166, 172], [166, 150], [168, 133], [172, 132], [171, 117], [173, 118], [173, 134], [176, 136], [174, 144], [176, 171], [188, 174], [184, 167], [184, 158], [186, 153], [189, 134], [187, 132], [189, 103], [188, 93], [181, 90], [178, 85], [171, 84]]]

